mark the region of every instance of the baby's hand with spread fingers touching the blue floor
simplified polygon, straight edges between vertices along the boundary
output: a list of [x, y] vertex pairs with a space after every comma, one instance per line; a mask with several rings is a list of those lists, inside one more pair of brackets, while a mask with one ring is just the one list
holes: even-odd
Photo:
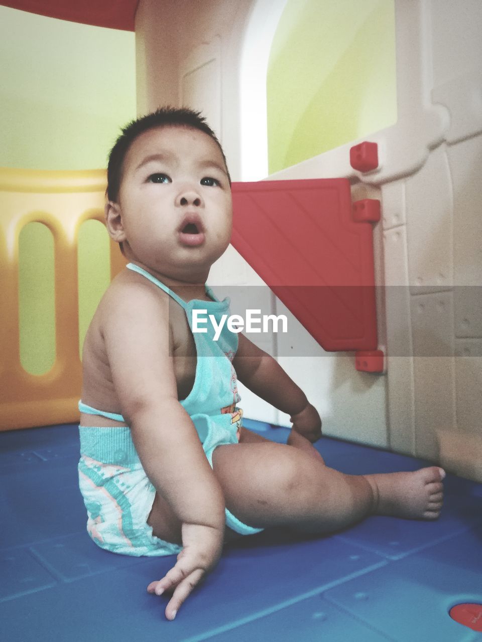
[[212, 526], [183, 524], [183, 550], [177, 555], [177, 562], [165, 577], [151, 582], [148, 593], [162, 595], [174, 590], [166, 606], [166, 618], [174, 620], [179, 607], [193, 588], [201, 582], [219, 561], [222, 552], [224, 532]]

